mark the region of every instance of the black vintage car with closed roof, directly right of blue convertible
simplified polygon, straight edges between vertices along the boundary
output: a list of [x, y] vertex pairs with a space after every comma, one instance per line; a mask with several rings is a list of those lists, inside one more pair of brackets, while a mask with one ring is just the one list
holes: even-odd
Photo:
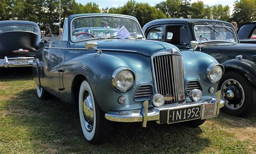
[[181, 51], [212, 55], [224, 65], [219, 89], [225, 99], [224, 111], [245, 116], [256, 106], [256, 45], [241, 44], [231, 23], [207, 19], [158, 19], [143, 31], [148, 40], [165, 41]]

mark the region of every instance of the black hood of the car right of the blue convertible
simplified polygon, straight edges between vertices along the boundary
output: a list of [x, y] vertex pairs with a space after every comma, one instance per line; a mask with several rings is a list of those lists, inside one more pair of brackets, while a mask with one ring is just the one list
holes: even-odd
[[[198, 48], [199, 49], [199, 48]], [[206, 43], [202, 45], [202, 50], [207, 52], [221, 52], [221, 51], [232, 51], [232, 52], [255, 52], [256, 54], [256, 44], [248, 43]]]

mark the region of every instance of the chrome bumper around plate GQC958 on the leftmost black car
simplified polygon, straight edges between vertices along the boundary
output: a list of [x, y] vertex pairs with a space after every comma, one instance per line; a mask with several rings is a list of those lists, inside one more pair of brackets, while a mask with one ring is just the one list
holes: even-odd
[[[28, 67], [33, 65], [33, 59], [33, 57], [4, 57], [4, 59], [0, 59], [0, 67]], [[17, 65], [15, 64], [15, 60], [28, 60], [28, 64]]]

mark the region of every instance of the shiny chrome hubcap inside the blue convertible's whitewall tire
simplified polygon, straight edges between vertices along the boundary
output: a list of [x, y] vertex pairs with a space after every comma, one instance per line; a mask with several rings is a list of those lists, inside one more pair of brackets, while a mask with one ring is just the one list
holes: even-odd
[[93, 128], [93, 103], [92, 97], [88, 90], [83, 93], [83, 120], [87, 131]]

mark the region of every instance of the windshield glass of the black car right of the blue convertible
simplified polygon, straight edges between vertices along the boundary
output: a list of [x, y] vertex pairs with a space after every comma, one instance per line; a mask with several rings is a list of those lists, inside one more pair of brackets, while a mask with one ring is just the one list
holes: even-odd
[[235, 31], [230, 26], [224, 25], [197, 25], [194, 27], [197, 41], [231, 41], [237, 43]]

